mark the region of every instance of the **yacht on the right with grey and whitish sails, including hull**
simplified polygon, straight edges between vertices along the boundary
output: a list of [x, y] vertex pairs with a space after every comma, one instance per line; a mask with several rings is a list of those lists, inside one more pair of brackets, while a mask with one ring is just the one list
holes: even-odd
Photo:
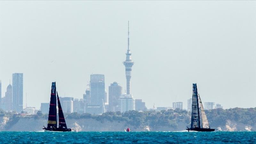
[[[202, 116], [202, 127], [200, 124], [200, 113]], [[197, 92], [196, 84], [193, 84], [193, 95], [192, 95], [192, 111], [191, 111], [191, 128], [187, 128], [189, 131], [198, 131], [198, 132], [212, 132], [215, 129], [211, 129], [207, 117], [205, 115], [204, 107], [201, 101], [201, 98]]]

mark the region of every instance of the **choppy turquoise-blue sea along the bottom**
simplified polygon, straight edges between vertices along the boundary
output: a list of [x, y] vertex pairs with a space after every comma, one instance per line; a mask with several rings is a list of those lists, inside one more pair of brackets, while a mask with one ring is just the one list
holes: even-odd
[[0, 143], [256, 144], [256, 132], [0, 132]]

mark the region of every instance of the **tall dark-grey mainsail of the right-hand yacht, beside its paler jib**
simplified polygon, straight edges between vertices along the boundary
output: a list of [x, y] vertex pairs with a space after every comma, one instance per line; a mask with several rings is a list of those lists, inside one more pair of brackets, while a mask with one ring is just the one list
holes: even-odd
[[198, 107], [197, 87], [193, 84], [191, 128], [200, 128], [200, 116]]

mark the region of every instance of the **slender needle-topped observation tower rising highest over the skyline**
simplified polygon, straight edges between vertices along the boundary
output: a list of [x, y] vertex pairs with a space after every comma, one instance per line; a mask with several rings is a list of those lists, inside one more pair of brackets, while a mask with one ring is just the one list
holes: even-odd
[[130, 52], [129, 48], [129, 21], [128, 21], [128, 49], [126, 52], [126, 60], [123, 62], [125, 66], [125, 76], [126, 76], [126, 94], [130, 94], [130, 84], [131, 84], [131, 77], [132, 77], [132, 53]]

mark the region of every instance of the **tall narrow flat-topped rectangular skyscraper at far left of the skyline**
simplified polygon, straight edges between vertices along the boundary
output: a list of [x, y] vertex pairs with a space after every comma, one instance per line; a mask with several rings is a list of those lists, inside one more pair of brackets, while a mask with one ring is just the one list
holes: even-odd
[[23, 109], [23, 73], [12, 74], [12, 109], [18, 113]]

